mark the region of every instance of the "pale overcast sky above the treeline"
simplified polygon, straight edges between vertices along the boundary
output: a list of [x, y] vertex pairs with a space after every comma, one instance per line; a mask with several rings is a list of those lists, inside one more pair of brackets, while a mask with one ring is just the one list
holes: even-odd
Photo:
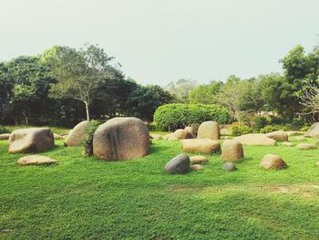
[[98, 44], [142, 84], [282, 71], [318, 44], [319, 0], [0, 0], [0, 60]]

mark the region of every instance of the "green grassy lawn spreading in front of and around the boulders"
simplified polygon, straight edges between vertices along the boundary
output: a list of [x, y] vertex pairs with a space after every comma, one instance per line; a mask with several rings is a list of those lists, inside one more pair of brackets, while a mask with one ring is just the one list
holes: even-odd
[[[244, 147], [236, 172], [222, 171], [214, 154], [202, 172], [169, 175], [163, 167], [179, 141], [153, 141], [149, 156], [129, 162], [56, 144], [43, 155], [58, 165], [21, 167], [23, 154], [6, 153], [0, 141], [0, 238], [319, 238], [319, 149]], [[289, 168], [262, 170], [265, 153]]]

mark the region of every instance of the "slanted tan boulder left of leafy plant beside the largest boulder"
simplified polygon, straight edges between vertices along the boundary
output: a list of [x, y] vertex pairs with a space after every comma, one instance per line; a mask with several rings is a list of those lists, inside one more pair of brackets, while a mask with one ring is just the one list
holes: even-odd
[[73, 130], [70, 130], [66, 140], [64, 141], [64, 145], [72, 147], [80, 146], [82, 144], [82, 141], [87, 137], [87, 127], [87, 120], [83, 120], [78, 123], [77, 126], [73, 128]]

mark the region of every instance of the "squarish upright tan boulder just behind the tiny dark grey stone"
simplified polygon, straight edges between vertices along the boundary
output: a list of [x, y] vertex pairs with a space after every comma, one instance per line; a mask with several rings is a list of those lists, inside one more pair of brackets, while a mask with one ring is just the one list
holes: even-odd
[[240, 161], [243, 158], [242, 144], [235, 140], [225, 140], [221, 146], [221, 159], [227, 162]]

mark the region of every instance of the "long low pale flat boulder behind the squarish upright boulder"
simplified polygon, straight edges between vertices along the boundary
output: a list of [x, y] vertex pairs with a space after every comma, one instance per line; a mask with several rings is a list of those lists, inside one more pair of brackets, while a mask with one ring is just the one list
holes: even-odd
[[276, 141], [266, 137], [262, 133], [250, 133], [234, 138], [233, 140], [239, 141], [242, 145], [249, 146], [275, 146]]

